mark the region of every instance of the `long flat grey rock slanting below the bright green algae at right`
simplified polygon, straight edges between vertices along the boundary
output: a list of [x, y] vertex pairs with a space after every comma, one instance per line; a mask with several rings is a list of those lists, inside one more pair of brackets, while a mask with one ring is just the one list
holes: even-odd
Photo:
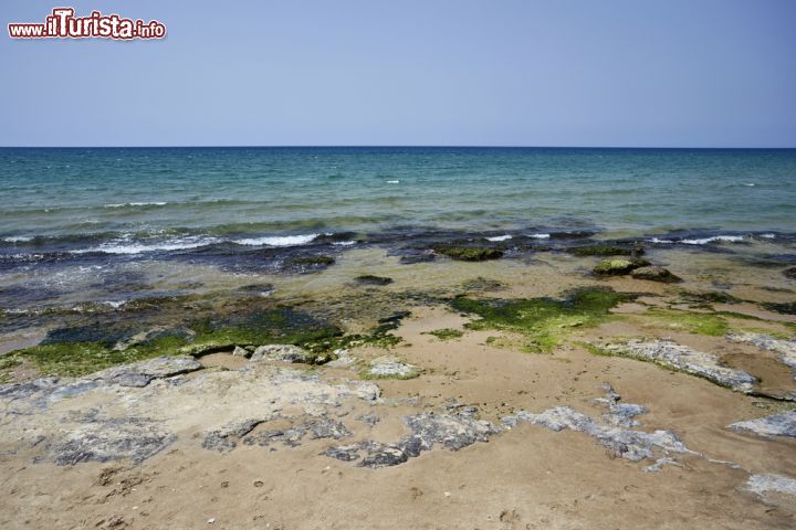
[[652, 361], [692, 375], [699, 375], [736, 392], [751, 393], [757, 382], [753, 375], [743, 370], [723, 367], [719, 362], [719, 358], [712, 353], [693, 350], [670, 340], [649, 342], [630, 340], [627, 344], [609, 344], [605, 349], [614, 354]]

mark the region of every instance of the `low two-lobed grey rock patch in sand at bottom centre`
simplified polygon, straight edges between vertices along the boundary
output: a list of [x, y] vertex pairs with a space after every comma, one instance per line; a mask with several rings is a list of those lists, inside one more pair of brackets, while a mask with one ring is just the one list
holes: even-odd
[[499, 430], [490, 422], [458, 414], [422, 413], [404, 417], [411, 434], [394, 444], [365, 441], [358, 444], [329, 447], [323, 455], [343, 462], [359, 460], [357, 466], [378, 468], [397, 466], [425, 451], [442, 445], [459, 451], [475, 442], [486, 442]]

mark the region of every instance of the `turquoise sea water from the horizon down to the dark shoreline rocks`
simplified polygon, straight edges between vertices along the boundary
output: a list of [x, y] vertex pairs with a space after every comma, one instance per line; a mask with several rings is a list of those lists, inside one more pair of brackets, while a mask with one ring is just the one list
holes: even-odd
[[788, 149], [6, 148], [0, 189], [7, 252], [397, 229], [796, 231]]

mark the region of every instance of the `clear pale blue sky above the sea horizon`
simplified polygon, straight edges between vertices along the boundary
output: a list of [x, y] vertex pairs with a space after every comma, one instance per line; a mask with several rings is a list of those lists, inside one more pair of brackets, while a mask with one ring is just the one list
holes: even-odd
[[[11, 41], [55, 6], [153, 42]], [[0, 146], [796, 147], [796, 0], [2, 0]]]

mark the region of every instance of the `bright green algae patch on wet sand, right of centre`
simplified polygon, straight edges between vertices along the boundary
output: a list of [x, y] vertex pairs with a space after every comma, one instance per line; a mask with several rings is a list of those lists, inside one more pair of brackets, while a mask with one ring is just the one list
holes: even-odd
[[573, 328], [595, 327], [609, 318], [609, 311], [635, 295], [610, 288], [584, 287], [563, 299], [473, 299], [457, 297], [451, 306], [481, 317], [467, 324], [469, 329], [502, 329], [525, 336], [531, 351], [548, 352]]

